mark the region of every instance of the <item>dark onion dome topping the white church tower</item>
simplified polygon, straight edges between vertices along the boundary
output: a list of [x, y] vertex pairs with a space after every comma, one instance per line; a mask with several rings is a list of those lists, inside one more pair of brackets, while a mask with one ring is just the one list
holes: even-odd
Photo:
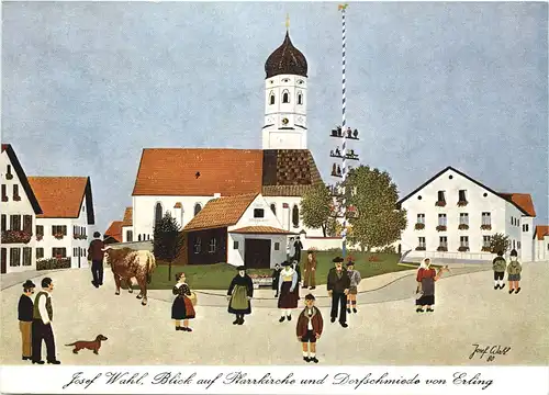
[[265, 78], [279, 75], [307, 76], [307, 60], [305, 56], [293, 46], [290, 34], [285, 32], [285, 38], [269, 56], [265, 63]]

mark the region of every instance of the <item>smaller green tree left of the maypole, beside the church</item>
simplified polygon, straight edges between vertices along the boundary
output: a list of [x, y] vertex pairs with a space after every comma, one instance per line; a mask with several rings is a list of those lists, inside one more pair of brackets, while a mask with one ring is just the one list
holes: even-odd
[[[324, 237], [333, 226], [332, 215], [333, 199], [326, 185], [310, 188], [301, 200], [301, 219], [306, 227], [322, 228]], [[330, 223], [332, 219], [332, 223]]]

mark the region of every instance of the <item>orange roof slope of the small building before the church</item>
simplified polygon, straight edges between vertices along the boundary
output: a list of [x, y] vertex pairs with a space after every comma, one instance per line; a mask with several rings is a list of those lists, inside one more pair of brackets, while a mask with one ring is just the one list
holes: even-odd
[[258, 194], [213, 199], [183, 228], [184, 232], [236, 225]]

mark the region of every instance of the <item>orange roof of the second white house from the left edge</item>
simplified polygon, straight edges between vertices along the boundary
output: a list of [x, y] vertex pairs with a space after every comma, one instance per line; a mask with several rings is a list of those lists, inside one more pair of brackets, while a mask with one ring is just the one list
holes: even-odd
[[29, 177], [43, 214], [38, 218], [77, 218], [88, 177]]

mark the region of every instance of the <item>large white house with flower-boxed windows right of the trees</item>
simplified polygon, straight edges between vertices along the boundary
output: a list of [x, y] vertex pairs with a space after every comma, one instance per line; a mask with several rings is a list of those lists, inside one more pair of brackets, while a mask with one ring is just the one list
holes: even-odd
[[[533, 260], [534, 217], [529, 194], [501, 193], [447, 167], [403, 198], [407, 211], [402, 251], [407, 260], [423, 257], [491, 260], [491, 236], [511, 239], [523, 261]], [[507, 251], [508, 252], [508, 251]]]

